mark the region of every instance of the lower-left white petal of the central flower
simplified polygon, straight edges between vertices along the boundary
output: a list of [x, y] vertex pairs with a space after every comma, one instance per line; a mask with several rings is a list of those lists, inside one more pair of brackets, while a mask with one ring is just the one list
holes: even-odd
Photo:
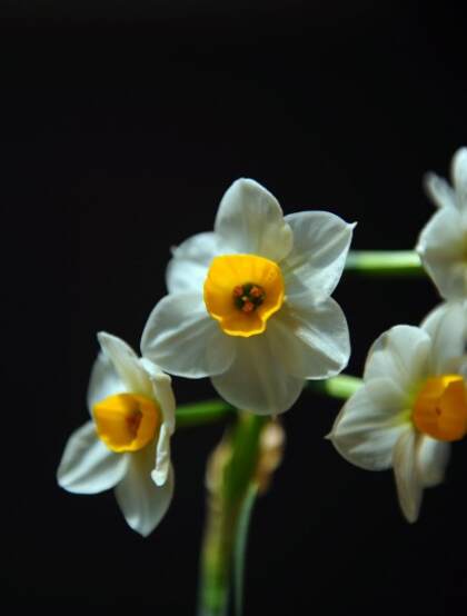
[[186, 292], [159, 301], [142, 332], [141, 351], [171, 375], [201, 378], [225, 371], [235, 345], [209, 316], [202, 297]]

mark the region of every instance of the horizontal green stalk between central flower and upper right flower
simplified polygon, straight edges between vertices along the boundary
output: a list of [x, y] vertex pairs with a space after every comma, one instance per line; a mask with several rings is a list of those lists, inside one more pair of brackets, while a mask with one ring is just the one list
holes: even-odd
[[346, 271], [377, 277], [425, 275], [415, 250], [350, 250]]

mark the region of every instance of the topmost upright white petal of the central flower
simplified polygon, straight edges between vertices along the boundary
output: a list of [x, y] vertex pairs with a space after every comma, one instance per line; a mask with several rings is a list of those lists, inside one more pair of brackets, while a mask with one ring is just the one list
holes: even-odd
[[237, 252], [252, 252], [272, 261], [284, 259], [292, 246], [292, 231], [277, 199], [255, 180], [245, 178], [223, 195], [215, 231]]

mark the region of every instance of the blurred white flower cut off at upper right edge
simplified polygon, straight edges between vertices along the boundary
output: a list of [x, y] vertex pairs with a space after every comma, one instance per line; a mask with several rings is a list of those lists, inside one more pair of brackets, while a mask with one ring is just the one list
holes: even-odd
[[467, 298], [467, 148], [453, 158], [451, 188], [429, 173], [426, 189], [439, 208], [423, 229], [417, 252], [445, 299]]

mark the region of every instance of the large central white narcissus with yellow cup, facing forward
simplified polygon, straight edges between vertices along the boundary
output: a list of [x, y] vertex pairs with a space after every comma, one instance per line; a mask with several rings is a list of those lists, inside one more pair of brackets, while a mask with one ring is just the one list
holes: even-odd
[[347, 365], [347, 322], [330, 294], [352, 228], [325, 211], [284, 217], [259, 183], [237, 180], [213, 232], [175, 249], [169, 295], [148, 319], [142, 355], [177, 376], [211, 377], [238, 408], [287, 410], [305, 379]]

